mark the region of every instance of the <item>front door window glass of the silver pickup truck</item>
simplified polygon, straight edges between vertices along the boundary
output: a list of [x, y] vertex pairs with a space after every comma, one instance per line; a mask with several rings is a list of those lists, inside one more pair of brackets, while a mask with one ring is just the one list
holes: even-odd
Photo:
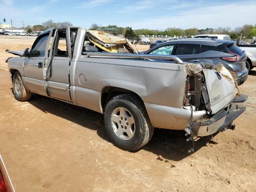
[[38, 37], [36, 43], [33, 45], [31, 50], [32, 57], [44, 57], [46, 44], [48, 42], [49, 34], [45, 34]]

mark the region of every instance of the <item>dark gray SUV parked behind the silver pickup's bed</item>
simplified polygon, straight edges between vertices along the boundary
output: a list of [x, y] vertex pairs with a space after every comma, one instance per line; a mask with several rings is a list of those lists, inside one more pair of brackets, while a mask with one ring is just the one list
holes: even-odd
[[239, 83], [242, 84], [248, 78], [246, 54], [235, 43], [230, 40], [188, 38], [161, 43], [143, 54], [171, 54], [190, 63], [221, 62], [236, 74]]

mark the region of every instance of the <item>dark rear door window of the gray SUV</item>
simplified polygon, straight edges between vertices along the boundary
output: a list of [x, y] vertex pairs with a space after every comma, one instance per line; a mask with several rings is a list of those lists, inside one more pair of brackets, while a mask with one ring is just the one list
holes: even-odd
[[201, 47], [200, 44], [179, 44], [176, 55], [194, 55], [200, 54]]

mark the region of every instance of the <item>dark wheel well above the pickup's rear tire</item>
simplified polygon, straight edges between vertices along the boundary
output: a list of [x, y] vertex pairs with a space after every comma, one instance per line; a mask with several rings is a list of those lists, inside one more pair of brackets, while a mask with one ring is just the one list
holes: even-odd
[[[135, 92], [124, 89], [124, 88], [112, 87], [112, 86], [104, 87], [101, 92], [102, 112], [104, 112], [106, 105], [112, 98], [114, 98], [115, 96], [121, 95], [121, 94], [126, 94], [126, 93], [134, 94], [134, 95], [138, 96], [138, 98], [140, 98], [140, 96], [138, 94], [136, 94]], [[143, 100], [141, 98], [140, 98], [140, 100], [141, 100], [142, 104], [144, 105]]]

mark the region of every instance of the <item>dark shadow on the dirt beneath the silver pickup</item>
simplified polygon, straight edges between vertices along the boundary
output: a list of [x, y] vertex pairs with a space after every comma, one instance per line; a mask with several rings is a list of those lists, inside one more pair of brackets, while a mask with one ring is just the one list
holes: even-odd
[[[98, 136], [111, 142], [104, 128], [104, 116], [102, 114], [37, 94], [33, 95], [28, 102], [45, 113], [54, 114], [84, 128], [96, 130]], [[180, 161], [190, 155], [188, 149], [193, 146], [191, 141], [186, 142], [184, 133], [185, 131], [155, 128], [152, 140], [140, 150], [156, 154], [158, 156], [156, 159], [160, 161], [164, 159]], [[209, 137], [196, 140], [194, 142], [195, 152], [206, 146], [207, 143], [214, 144]]]

